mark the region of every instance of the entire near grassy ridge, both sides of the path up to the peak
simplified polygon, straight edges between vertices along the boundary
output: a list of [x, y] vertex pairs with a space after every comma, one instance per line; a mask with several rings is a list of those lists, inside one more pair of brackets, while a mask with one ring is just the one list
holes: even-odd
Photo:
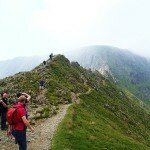
[[[42, 94], [38, 89], [41, 78], [46, 81]], [[70, 63], [62, 55], [30, 72], [0, 80], [0, 89], [10, 92], [10, 102], [18, 91], [29, 93], [29, 114], [34, 120], [57, 113], [59, 104], [78, 103], [70, 107], [59, 127], [53, 149], [150, 148], [150, 116], [141, 101], [99, 72]]]

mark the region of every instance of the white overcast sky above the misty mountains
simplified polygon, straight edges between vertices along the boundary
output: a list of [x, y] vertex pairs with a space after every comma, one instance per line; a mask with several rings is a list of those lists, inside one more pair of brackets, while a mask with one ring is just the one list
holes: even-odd
[[150, 57], [150, 0], [0, 0], [0, 60], [110, 45]]

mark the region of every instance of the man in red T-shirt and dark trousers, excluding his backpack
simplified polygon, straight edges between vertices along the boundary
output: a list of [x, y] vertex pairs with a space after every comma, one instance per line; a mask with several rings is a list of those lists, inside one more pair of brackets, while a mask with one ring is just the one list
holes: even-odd
[[14, 116], [16, 123], [13, 125], [12, 134], [19, 145], [19, 150], [27, 150], [26, 127], [34, 132], [34, 129], [31, 127], [29, 121], [26, 118], [26, 101], [27, 98], [24, 95], [21, 95], [18, 98], [18, 103], [16, 105], [17, 111]]

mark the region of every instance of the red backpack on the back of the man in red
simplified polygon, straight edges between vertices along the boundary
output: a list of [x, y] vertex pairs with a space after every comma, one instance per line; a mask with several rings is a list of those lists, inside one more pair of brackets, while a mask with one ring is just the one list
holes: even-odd
[[17, 123], [17, 121], [14, 119], [17, 109], [18, 109], [17, 106], [13, 106], [8, 109], [8, 111], [6, 113], [6, 119], [7, 119], [7, 122], [9, 125], [14, 125]]

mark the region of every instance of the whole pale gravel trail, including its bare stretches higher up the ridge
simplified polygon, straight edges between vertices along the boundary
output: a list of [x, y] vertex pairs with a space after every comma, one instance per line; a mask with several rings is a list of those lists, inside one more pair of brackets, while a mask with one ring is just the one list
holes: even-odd
[[[88, 87], [88, 90], [84, 94], [89, 94], [91, 88], [87, 85], [87, 80], [81, 76], [84, 81], [84, 85]], [[36, 98], [37, 101], [43, 102], [46, 104], [46, 99], [44, 96], [46, 90], [39, 94]], [[72, 103], [80, 103], [80, 95], [83, 93], [71, 93]], [[60, 105], [59, 110], [56, 115], [53, 115], [50, 118], [42, 119], [37, 121], [34, 127], [35, 132], [31, 133], [27, 130], [27, 149], [28, 150], [50, 150], [52, 138], [59, 123], [65, 117], [67, 110], [71, 104]], [[32, 115], [33, 112], [30, 112]], [[7, 136], [6, 131], [0, 131], [0, 150], [18, 150], [18, 145], [15, 144], [14, 139], [11, 139]]]

